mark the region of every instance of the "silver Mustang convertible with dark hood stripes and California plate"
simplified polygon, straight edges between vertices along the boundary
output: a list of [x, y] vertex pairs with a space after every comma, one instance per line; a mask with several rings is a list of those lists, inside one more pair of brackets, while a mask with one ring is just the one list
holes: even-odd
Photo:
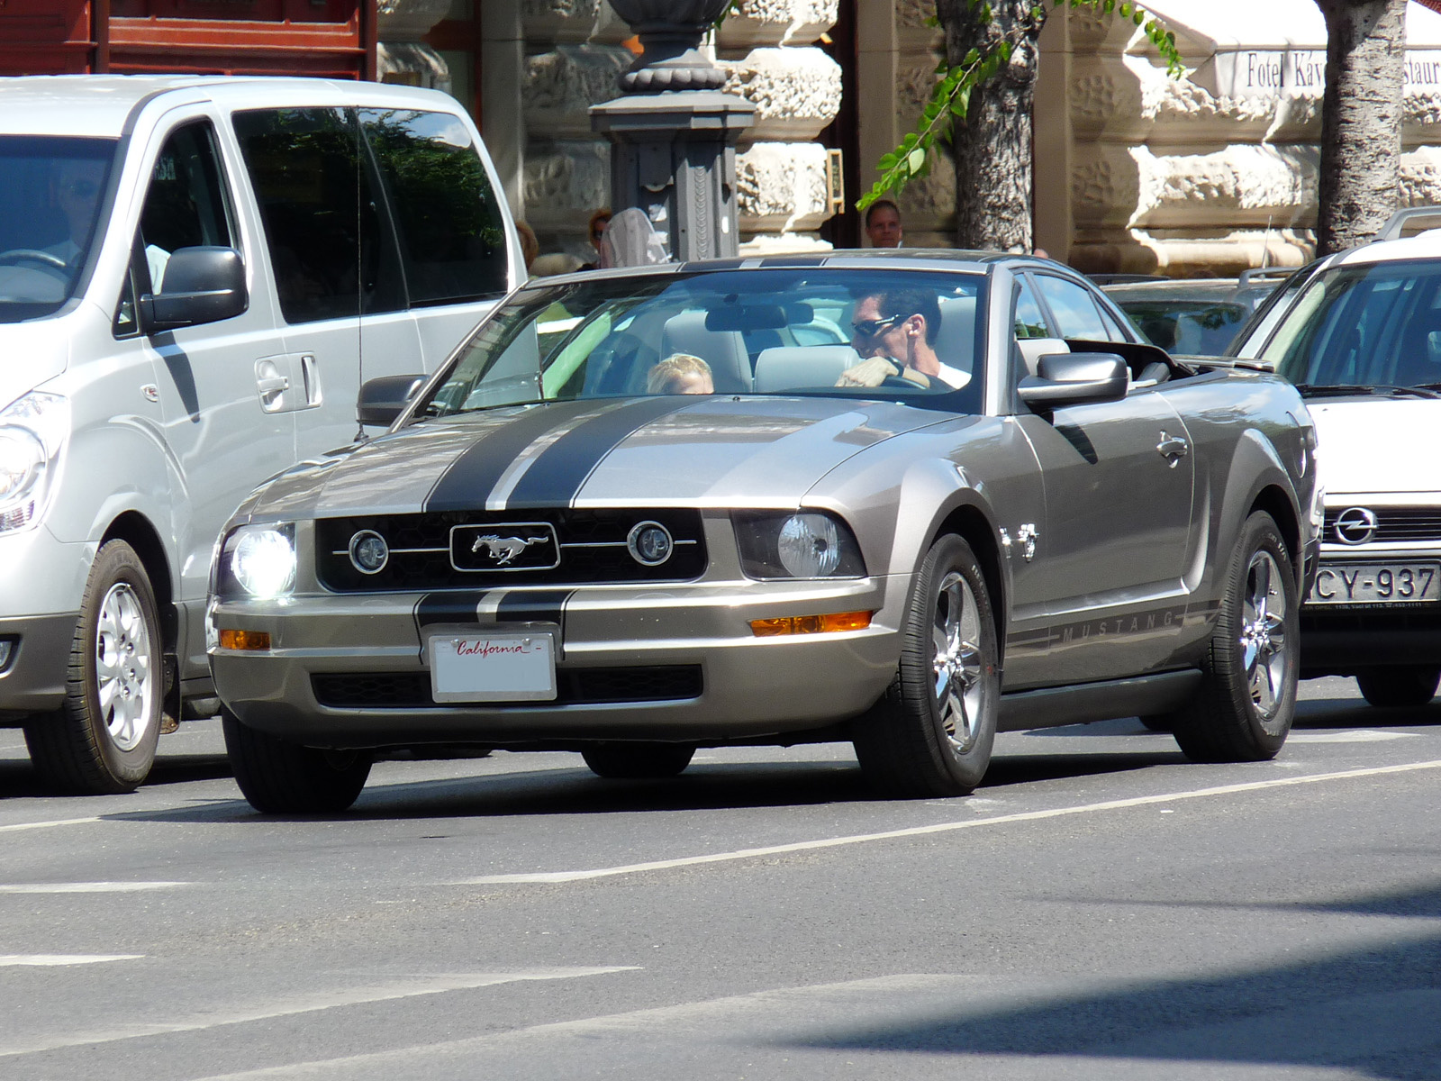
[[1029, 257], [834, 254], [514, 293], [379, 438], [219, 539], [246, 798], [340, 810], [382, 748], [852, 741], [898, 796], [997, 731], [1140, 715], [1200, 761], [1291, 725], [1319, 493], [1282, 381], [1176, 363]]

